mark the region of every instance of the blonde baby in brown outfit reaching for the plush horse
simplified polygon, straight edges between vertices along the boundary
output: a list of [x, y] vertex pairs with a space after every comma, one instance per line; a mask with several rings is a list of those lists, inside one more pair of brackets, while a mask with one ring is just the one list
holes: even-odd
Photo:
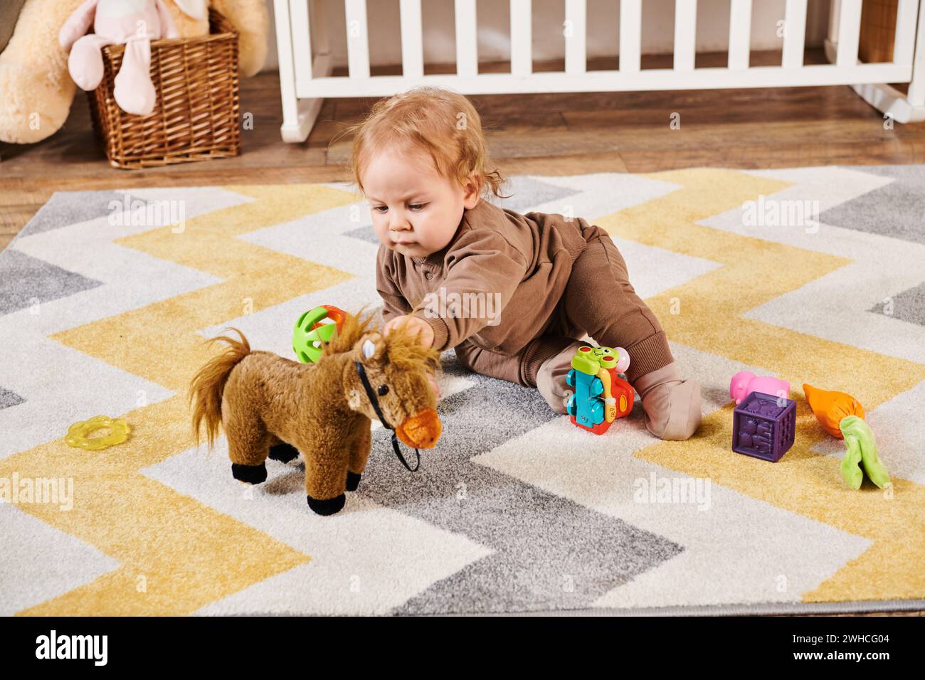
[[483, 197], [508, 198], [487, 169], [468, 99], [415, 88], [380, 100], [350, 130], [351, 169], [381, 241], [383, 332], [403, 324], [477, 373], [539, 389], [561, 414], [565, 375], [587, 335], [629, 352], [626, 378], [652, 434], [694, 434], [700, 386], [681, 376], [610, 235], [580, 217], [520, 215]]

